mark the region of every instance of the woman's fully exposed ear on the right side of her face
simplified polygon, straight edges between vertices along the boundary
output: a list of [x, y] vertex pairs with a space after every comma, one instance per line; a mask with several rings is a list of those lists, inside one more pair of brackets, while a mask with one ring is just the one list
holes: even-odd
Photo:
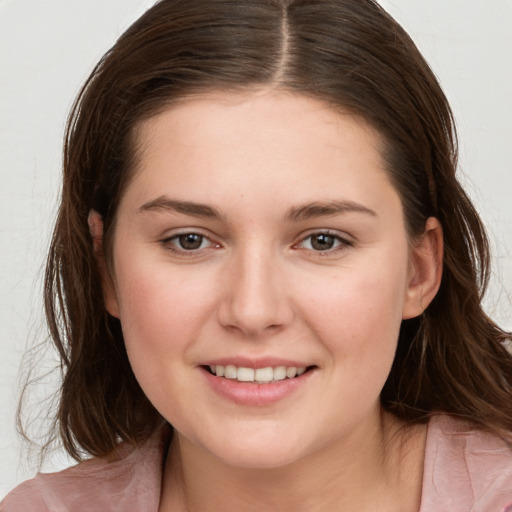
[[443, 274], [443, 229], [430, 217], [425, 231], [414, 241], [409, 261], [408, 285], [402, 318], [414, 318], [427, 309], [436, 296]]

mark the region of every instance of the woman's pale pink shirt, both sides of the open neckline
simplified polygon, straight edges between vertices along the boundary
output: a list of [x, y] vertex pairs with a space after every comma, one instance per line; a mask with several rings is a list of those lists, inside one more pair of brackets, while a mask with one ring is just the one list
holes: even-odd
[[[16, 487], [0, 512], [157, 512], [165, 432]], [[512, 512], [512, 448], [448, 416], [430, 420], [420, 512]]]

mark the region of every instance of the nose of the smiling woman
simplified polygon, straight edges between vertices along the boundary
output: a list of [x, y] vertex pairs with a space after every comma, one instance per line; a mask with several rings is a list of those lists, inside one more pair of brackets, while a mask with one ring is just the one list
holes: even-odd
[[276, 259], [270, 250], [248, 248], [230, 261], [218, 313], [224, 328], [256, 338], [291, 322], [289, 289]]

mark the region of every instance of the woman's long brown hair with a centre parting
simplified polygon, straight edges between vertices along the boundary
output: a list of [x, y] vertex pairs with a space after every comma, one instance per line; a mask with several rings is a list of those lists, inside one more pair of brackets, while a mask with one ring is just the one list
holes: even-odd
[[383, 407], [407, 421], [444, 412], [512, 430], [509, 335], [483, 312], [481, 221], [456, 178], [452, 113], [429, 66], [374, 0], [161, 0], [121, 36], [81, 90], [64, 151], [62, 201], [46, 268], [48, 325], [64, 369], [67, 451], [104, 456], [162, 420], [105, 311], [87, 218], [104, 221], [108, 259], [137, 124], [213, 89], [275, 87], [350, 111], [383, 136], [411, 237], [444, 230], [444, 273], [424, 314], [403, 322]]

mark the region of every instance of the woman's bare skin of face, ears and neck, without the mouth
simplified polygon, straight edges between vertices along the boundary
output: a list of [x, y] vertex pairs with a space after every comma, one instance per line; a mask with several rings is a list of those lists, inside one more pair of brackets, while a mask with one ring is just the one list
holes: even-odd
[[[442, 234], [429, 219], [408, 239], [380, 145], [360, 119], [279, 91], [194, 97], [139, 126], [105, 301], [176, 430], [161, 511], [418, 510], [425, 428], [379, 394], [402, 319], [439, 286]], [[91, 231], [101, 240], [95, 214]], [[313, 369], [275, 403], [240, 405], [204, 378], [219, 357]]]

